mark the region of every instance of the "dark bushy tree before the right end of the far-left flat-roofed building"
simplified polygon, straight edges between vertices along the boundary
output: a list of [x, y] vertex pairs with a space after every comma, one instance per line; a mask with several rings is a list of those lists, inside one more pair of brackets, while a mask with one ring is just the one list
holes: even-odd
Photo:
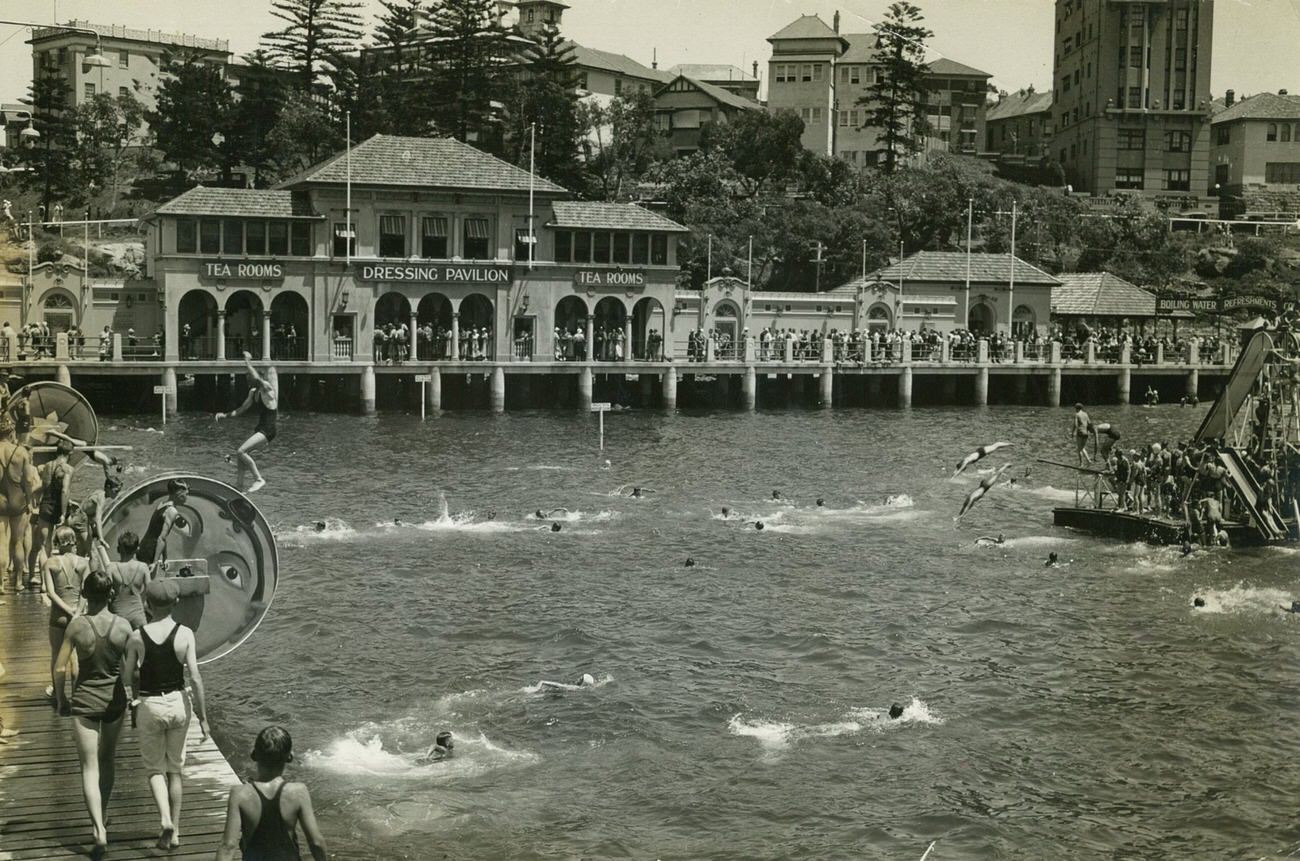
[[157, 105], [146, 114], [164, 159], [192, 176], [229, 164], [220, 146], [234, 127], [234, 92], [218, 66], [192, 53], [164, 60]]

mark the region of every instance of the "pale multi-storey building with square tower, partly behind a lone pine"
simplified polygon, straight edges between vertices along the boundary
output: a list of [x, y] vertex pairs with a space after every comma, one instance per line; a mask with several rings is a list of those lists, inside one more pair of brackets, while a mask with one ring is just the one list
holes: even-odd
[[[838, 25], [838, 16], [833, 25], [815, 14], [802, 16], [768, 36], [767, 108], [792, 111], [803, 120], [807, 150], [872, 164], [880, 143], [867, 125], [870, 105], [863, 99], [883, 74], [878, 36], [841, 34]], [[988, 79], [988, 73], [946, 57], [928, 64], [926, 150], [976, 152]]]

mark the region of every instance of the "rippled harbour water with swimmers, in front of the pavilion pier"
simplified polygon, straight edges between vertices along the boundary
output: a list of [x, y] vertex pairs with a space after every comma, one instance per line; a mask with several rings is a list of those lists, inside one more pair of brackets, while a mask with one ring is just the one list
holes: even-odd
[[[1202, 408], [1098, 412], [1173, 442]], [[287, 726], [343, 858], [1296, 852], [1294, 553], [1053, 528], [1072, 477], [1034, 458], [1070, 457], [1070, 419], [623, 412], [602, 454], [573, 414], [287, 415], [256, 499], [283, 576], [204, 667], [217, 739], [238, 770]], [[130, 477], [233, 480], [247, 431], [103, 424]]]

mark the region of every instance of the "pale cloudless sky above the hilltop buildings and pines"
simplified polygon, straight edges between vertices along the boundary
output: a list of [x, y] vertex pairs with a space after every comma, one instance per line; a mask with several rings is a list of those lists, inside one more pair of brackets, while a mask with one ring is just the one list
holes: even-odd
[[[590, 48], [625, 53], [659, 66], [724, 62], [746, 72], [758, 60], [766, 78], [772, 35], [801, 14], [827, 23], [840, 9], [845, 33], [879, 21], [888, 0], [567, 0], [566, 35]], [[367, 23], [380, 9], [364, 0]], [[933, 55], [983, 69], [994, 86], [1044, 90], [1052, 81], [1052, 0], [918, 0], [935, 31]], [[1212, 90], [1238, 95], [1288, 87], [1300, 92], [1295, 47], [1300, 44], [1300, 0], [1217, 0], [1214, 3]], [[0, 16], [36, 23], [86, 18], [95, 23], [183, 31], [230, 42], [237, 55], [252, 51], [276, 27], [269, 0], [3, 0]], [[30, 33], [0, 25], [0, 100], [26, 96], [31, 78]]]

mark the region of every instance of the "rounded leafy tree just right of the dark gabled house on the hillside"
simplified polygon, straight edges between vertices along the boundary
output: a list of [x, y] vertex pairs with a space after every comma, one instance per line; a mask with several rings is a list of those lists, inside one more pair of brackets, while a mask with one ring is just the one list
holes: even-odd
[[746, 111], [702, 137], [701, 148], [727, 153], [750, 196], [794, 176], [805, 152], [803, 121], [790, 111]]

